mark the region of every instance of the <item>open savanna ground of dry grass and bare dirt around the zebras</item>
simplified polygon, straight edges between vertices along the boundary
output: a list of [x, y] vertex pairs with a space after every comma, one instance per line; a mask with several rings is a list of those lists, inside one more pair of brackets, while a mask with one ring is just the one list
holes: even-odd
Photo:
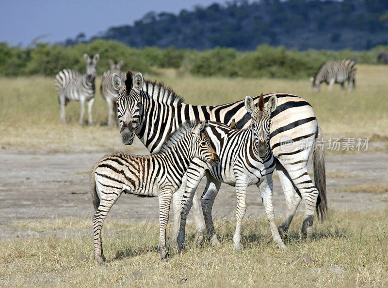
[[[204, 78], [172, 70], [158, 78], [192, 104], [261, 92], [302, 96], [314, 107], [325, 139], [369, 137], [368, 151], [326, 149], [328, 216], [323, 224], [315, 221], [311, 239], [300, 241], [301, 207], [284, 240], [287, 251], [272, 243], [259, 194], [251, 188], [244, 249], [234, 253], [234, 188], [223, 185], [214, 206], [221, 246], [194, 247], [190, 223], [186, 250], [170, 251], [170, 261], [161, 263], [157, 199], [125, 195], [104, 224], [110, 262], [100, 269], [92, 257], [89, 171], [105, 153], [146, 150], [139, 142], [124, 147], [118, 129], [107, 130], [98, 89], [95, 125], [79, 127], [79, 104], [70, 103], [63, 126], [52, 78], [0, 78], [1, 285], [387, 286], [388, 67], [359, 66], [352, 92], [335, 86], [329, 93], [323, 85], [313, 93], [308, 80]], [[285, 204], [274, 178], [279, 223]]]

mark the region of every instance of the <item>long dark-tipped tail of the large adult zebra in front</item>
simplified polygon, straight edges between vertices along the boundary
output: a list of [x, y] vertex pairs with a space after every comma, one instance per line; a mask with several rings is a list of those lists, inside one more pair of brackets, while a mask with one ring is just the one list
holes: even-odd
[[321, 127], [318, 125], [317, 135], [315, 136], [314, 152], [312, 154], [313, 169], [314, 169], [314, 184], [318, 190], [318, 198], [316, 210], [318, 220], [324, 221], [327, 212], [326, 199], [326, 171], [325, 171], [325, 156], [323, 145], [317, 145], [317, 141], [323, 140]]

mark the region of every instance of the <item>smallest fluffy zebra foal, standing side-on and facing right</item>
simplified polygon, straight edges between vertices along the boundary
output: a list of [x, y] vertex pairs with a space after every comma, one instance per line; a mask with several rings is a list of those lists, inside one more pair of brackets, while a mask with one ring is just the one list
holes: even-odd
[[138, 156], [116, 152], [97, 162], [92, 173], [94, 258], [104, 265], [101, 229], [104, 219], [124, 192], [145, 197], [159, 197], [159, 253], [167, 260], [166, 226], [171, 197], [182, 183], [195, 157], [216, 166], [220, 159], [204, 132], [206, 122], [186, 123], [179, 127], [158, 154]]

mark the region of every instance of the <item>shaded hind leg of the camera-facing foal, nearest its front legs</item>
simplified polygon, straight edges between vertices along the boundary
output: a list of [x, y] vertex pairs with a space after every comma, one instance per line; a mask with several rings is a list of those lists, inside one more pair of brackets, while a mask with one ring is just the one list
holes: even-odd
[[217, 239], [217, 235], [215, 234], [213, 218], [211, 214], [211, 210], [213, 209], [214, 199], [220, 190], [221, 182], [216, 180], [210, 174], [207, 176], [207, 183], [202, 194], [201, 204], [202, 204], [202, 212], [205, 218], [206, 230], [208, 232], [208, 237], [210, 239], [210, 243], [213, 246], [220, 245], [221, 243]]

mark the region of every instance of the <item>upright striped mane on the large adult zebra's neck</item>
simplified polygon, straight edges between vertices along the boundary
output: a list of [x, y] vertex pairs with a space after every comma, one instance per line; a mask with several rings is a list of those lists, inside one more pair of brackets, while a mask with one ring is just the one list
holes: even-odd
[[181, 96], [172, 90], [170, 86], [166, 86], [162, 81], [145, 79], [143, 91], [147, 92], [152, 99], [159, 103], [173, 105], [184, 102]]

